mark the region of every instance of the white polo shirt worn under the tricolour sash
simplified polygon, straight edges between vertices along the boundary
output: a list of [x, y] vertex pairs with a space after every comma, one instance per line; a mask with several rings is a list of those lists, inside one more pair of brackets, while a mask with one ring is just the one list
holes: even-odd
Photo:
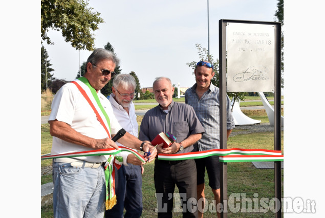
[[[85, 84], [82, 82], [78, 84], [86, 91], [89, 97], [92, 96], [90, 89]], [[112, 106], [109, 100], [104, 95], [102, 95], [100, 91], [98, 91], [97, 95], [99, 97], [101, 105], [110, 118], [111, 134], [116, 134], [122, 127], [116, 120]], [[93, 104], [97, 107], [96, 102]], [[100, 109], [97, 111], [101, 113]], [[85, 100], [81, 92], [78, 90], [77, 86], [73, 83], [68, 83], [62, 86], [55, 94], [52, 102], [52, 111], [49, 121], [53, 121], [55, 119], [67, 123], [71, 126], [71, 128], [83, 135], [96, 139], [107, 137], [107, 133], [100, 122], [97, 120], [97, 116], [94, 110]], [[53, 136], [51, 150], [52, 155], [89, 150], [94, 149], [66, 142], [58, 137]], [[106, 162], [109, 156], [110, 155], [100, 155], [75, 158], [87, 162], [100, 163]]]

